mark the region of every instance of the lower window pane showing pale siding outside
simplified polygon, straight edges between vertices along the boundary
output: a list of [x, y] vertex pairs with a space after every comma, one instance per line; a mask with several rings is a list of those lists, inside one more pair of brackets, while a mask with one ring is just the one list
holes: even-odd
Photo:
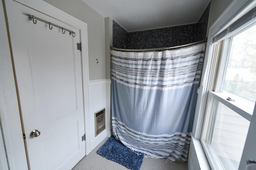
[[216, 102], [211, 145], [226, 170], [237, 170], [250, 121], [221, 102]]

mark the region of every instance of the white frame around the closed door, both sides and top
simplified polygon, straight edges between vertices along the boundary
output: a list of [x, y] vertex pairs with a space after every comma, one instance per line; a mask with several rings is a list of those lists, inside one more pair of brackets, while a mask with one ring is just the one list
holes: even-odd
[[[88, 69], [88, 36], [87, 36], [87, 23], [78, 20], [74, 16], [67, 14], [66, 12], [48, 4], [43, 0], [4, 0], [6, 6], [10, 6], [14, 1], [28, 6], [34, 10], [42, 12], [48, 16], [56, 18], [57, 20], [64, 21], [65, 23], [80, 29], [80, 38], [82, 42], [82, 81], [83, 81], [83, 99], [84, 99], [84, 122], [85, 122], [85, 133], [86, 133], [86, 155], [90, 153], [90, 124], [89, 124], [89, 69]], [[15, 2], [15, 3], [16, 3]], [[1, 14], [4, 13], [6, 9], [0, 8]], [[1, 4], [2, 5], [2, 4]], [[1, 15], [1, 19], [4, 18]], [[3, 49], [4, 60], [0, 65], [0, 123], [2, 127], [2, 135], [4, 138], [6, 156], [8, 159], [9, 168], [12, 169], [28, 169], [25, 145], [22, 138], [22, 124], [20, 119], [20, 112], [18, 106], [17, 91], [15, 85], [15, 76], [12, 66], [12, 48], [10, 42], [10, 36], [8, 35], [8, 29], [6, 30], [6, 23], [1, 20], [1, 30], [6, 34], [2, 34], [0, 44], [4, 45]], [[8, 25], [7, 25], [8, 27]], [[9, 39], [9, 41], [8, 41]], [[2, 50], [2, 49], [1, 49]], [[2, 53], [2, 51], [1, 51]], [[2, 70], [3, 69], [3, 70]], [[1, 98], [2, 97], [2, 98]], [[6, 101], [6, 98], [8, 101]], [[7, 103], [8, 102], [8, 103]], [[13, 135], [13, 132], [17, 132]], [[1, 163], [1, 162], [0, 162]]]

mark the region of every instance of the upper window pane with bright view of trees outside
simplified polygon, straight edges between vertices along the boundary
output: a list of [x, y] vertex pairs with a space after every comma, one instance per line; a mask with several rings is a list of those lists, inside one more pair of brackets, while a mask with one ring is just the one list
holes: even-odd
[[255, 86], [256, 25], [232, 38], [223, 92], [229, 92], [228, 95], [233, 95], [236, 102], [241, 102], [253, 110], [256, 100]]

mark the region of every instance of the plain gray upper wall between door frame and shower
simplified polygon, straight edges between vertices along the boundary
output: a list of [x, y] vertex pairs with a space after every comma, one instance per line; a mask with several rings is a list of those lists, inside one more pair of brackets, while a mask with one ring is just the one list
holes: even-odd
[[[44, 0], [87, 23], [89, 79], [105, 79], [104, 18], [82, 0]], [[99, 63], [96, 64], [96, 59]]]

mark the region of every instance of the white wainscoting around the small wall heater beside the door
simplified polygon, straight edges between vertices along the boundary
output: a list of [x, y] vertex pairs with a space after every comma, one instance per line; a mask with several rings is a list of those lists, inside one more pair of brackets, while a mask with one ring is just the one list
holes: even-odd
[[[89, 113], [90, 120], [90, 152], [99, 145], [111, 133], [110, 117], [110, 80], [92, 80], [89, 82]], [[106, 129], [95, 137], [94, 113], [105, 108], [106, 110]]]

